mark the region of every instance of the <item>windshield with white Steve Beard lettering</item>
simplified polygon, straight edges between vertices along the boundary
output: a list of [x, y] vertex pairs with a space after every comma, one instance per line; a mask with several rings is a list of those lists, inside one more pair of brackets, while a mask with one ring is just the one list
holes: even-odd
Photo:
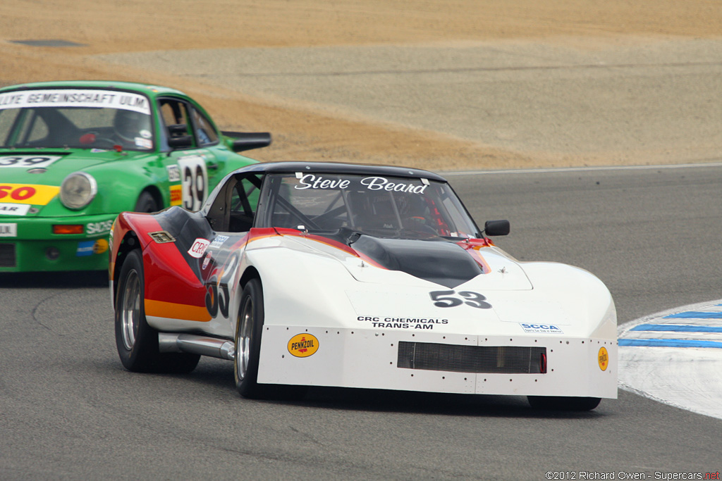
[[273, 175], [269, 227], [380, 237], [481, 237], [445, 182], [383, 175]]

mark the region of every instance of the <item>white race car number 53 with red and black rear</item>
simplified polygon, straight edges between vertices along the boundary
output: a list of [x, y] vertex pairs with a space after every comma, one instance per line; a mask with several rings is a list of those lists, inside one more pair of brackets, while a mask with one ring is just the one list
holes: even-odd
[[233, 361], [245, 397], [308, 386], [617, 397], [617, 315], [579, 268], [519, 262], [432, 172], [253, 164], [201, 211], [121, 213], [110, 238], [116, 343], [131, 371]]

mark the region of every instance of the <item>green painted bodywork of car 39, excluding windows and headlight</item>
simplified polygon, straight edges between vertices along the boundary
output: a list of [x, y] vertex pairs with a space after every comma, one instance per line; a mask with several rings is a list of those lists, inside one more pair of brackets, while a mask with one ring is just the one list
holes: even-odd
[[[27, 97], [31, 94], [25, 92], [27, 89], [142, 94], [150, 105], [152, 127], [145, 132], [152, 148], [14, 146], [6, 138], [19, 138], [20, 134], [0, 123], [0, 273], [106, 269], [110, 225], [118, 213], [133, 211], [142, 193], [150, 193], [160, 209], [183, 205], [197, 210], [225, 175], [256, 162], [233, 151], [233, 139], [218, 131], [200, 105], [175, 89], [112, 81], [43, 82], [2, 88], [0, 102], [3, 98], [9, 102], [16, 93]], [[198, 112], [215, 140], [196, 134], [199, 123], [188, 113], [191, 144], [170, 146], [172, 135], [160, 112], [162, 102], [183, 105], [186, 112]], [[12, 107], [0, 103], [3, 108]], [[43, 163], [42, 159], [51, 160]], [[42, 168], [34, 169], [32, 162], [40, 162]], [[84, 172], [97, 183], [95, 197], [78, 210], [61, 203], [58, 188], [74, 172]], [[40, 193], [28, 198], [31, 189]], [[8, 215], [13, 211], [16, 215]], [[82, 226], [82, 234], [53, 234], [53, 226], [58, 225]]]

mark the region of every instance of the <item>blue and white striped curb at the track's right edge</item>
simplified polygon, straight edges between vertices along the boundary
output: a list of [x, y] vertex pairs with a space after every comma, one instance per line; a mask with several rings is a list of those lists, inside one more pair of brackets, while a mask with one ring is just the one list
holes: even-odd
[[617, 328], [619, 387], [722, 419], [722, 299]]

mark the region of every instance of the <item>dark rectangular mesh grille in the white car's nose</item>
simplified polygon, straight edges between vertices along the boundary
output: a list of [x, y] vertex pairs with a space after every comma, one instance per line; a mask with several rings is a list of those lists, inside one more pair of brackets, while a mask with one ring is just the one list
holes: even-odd
[[396, 367], [476, 374], [545, 374], [547, 348], [399, 341]]

